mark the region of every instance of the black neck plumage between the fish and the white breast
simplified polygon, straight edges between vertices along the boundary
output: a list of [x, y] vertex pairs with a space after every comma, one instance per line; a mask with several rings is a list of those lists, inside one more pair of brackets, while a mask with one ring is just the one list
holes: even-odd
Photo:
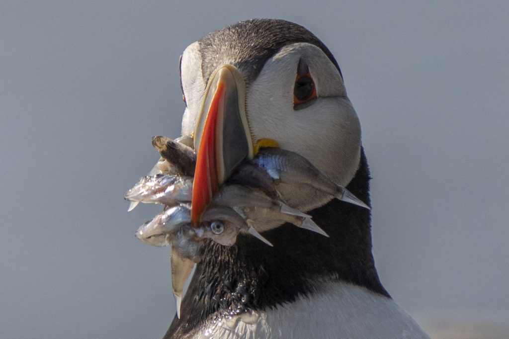
[[[368, 205], [369, 180], [362, 151], [347, 188]], [[320, 278], [346, 281], [388, 297], [371, 251], [370, 211], [334, 199], [310, 214], [330, 238], [284, 224], [263, 233], [274, 247], [241, 235], [231, 247], [207, 244], [182, 301], [181, 318], [175, 317], [165, 338], [181, 337], [214, 315], [292, 302], [320, 290]]]

